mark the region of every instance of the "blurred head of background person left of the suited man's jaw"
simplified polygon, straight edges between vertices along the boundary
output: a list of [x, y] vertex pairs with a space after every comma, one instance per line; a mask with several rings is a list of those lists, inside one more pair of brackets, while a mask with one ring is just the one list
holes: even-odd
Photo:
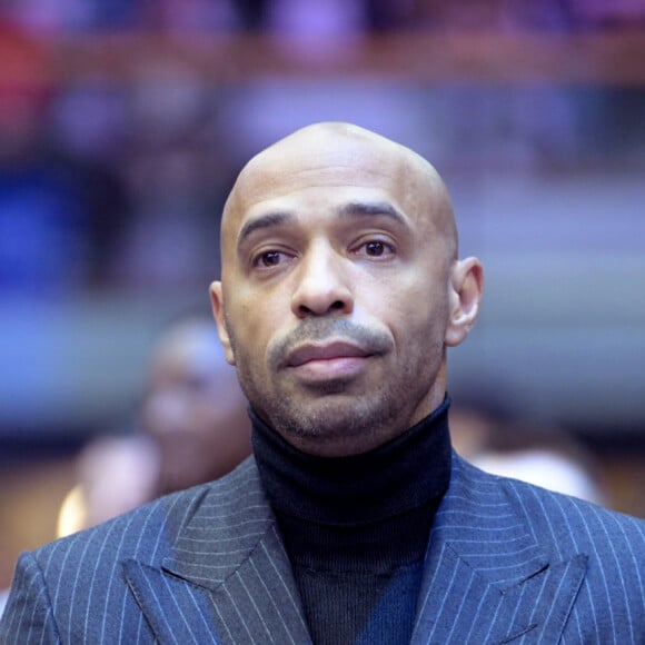
[[250, 454], [247, 400], [212, 321], [188, 318], [161, 335], [141, 417], [162, 493], [221, 477]]

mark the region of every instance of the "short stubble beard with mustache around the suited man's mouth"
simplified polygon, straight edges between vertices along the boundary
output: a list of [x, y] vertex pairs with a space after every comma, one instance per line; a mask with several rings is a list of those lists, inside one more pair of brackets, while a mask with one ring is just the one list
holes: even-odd
[[[324, 454], [326, 446], [374, 447], [404, 433], [436, 380], [444, 345], [401, 357], [390, 335], [347, 319], [308, 318], [267, 349], [268, 371], [251, 360], [228, 327], [240, 386], [255, 411], [288, 443]], [[370, 353], [365, 377], [302, 384], [288, 375], [287, 356], [304, 343], [341, 338]], [[397, 358], [390, 367], [391, 358]], [[262, 377], [262, 375], [265, 375]], [[429, 414], [430, 410], [428, 410]], [[353, 452], [363, 452], [360, 449]]]

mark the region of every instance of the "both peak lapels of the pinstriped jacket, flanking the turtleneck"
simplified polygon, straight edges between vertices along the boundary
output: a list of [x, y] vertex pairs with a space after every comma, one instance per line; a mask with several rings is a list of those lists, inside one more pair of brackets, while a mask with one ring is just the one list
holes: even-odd
[[[549, 562], [502, 482], [455, 457], [413, 643], [559, 639], [586, 558]], [[160, 568], [129, 560], [125, 573], [161, 643], [310, 643], [252, 459], [208, 488]]]

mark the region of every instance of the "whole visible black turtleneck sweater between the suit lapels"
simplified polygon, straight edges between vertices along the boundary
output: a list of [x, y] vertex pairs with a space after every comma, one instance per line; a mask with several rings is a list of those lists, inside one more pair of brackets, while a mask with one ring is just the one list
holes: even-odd
[[375, 450], [339, 458], [297, 450], [250, 411], [260, 478], [314, 643], [409, 643], [450, 478], [449, 405]]

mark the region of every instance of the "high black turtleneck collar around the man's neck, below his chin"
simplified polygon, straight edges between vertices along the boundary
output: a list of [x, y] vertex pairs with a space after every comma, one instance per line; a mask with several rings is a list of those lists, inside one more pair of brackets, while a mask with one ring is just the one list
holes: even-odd
[[288, 444], [251, 410], [252, 444], [271, 506], [334, 525], [371, 523], [424, 504], [447, 486], [449, 399], [404, 435], [349, 457], [318, 457]]

